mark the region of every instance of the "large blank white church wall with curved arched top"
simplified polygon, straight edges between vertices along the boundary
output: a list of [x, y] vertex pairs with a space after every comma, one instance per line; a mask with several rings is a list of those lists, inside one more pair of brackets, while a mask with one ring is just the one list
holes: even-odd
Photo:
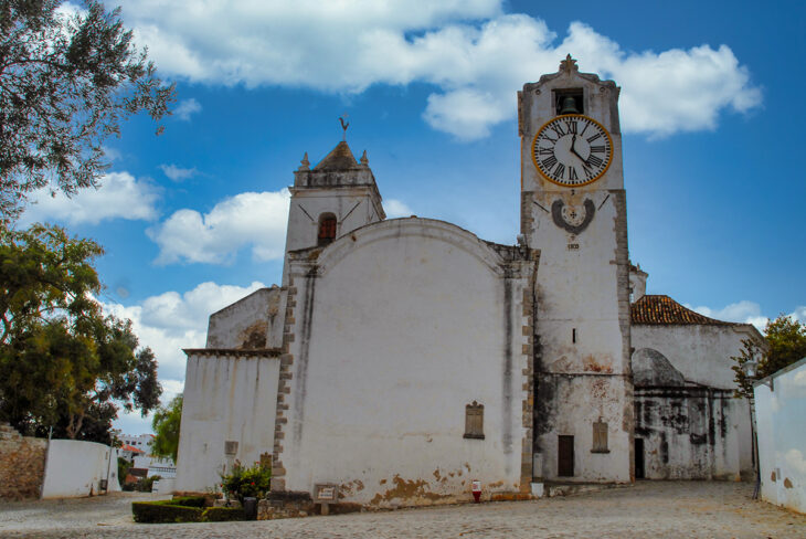
[[[381, 507], [528, 489], [532, 261], [404, 219], [290, 266], [273, 489]], [[474, 401], [485, 440], [463, 437]]]

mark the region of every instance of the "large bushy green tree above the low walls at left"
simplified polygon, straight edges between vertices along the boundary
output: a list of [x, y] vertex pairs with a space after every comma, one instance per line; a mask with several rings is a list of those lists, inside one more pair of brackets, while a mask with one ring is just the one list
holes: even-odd
[[0, 420], [23, 432], [112, 441], [118, 405], [145, 415], [162, 389], [130, 320], [104, 316], [89, 240], [0, 229]]

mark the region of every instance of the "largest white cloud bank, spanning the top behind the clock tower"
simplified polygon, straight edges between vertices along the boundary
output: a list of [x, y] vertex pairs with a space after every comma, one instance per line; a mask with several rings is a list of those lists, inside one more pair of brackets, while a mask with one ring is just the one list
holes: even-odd
[[582, 22], [572, 23], [558, 42], [542, 20], [505, 14], [503, 6], [502, 0], [144, 0], [128, 2], [124, 15], [160, 70], [192, 82], [342, 93], [373, 84], [433, 84], [437, 89], [423, 118], [465, 140], [515, 118], [515, 92], [555, 72], [566, 53], [583, 72], [623, 86], [625, 131], [665, 136], [713, 129], [723, 110], [743, 113], [761, 104], [761, 91], [727, 45], [625, 52]]

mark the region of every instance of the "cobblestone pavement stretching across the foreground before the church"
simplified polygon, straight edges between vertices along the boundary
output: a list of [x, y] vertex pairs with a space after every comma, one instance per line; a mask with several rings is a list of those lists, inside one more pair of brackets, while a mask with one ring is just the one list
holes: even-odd
[[138, 525], [110, 495], [0, 504], [0, 537], [43, 538], [806, 538], [806, 516], [750, 499], [746, 483], [640, 482], [568, 498], [300, 519]]

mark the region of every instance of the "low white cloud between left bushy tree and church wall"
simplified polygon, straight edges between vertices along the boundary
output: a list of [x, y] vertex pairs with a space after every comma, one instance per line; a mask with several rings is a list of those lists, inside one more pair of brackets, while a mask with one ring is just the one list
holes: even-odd
[[[184, 388], [182, 349], [204, 347], [209, 316], [263, 287], [259, 282], [247, 286], [202, 283], [184, 294], [166, 292], [137, 305], [102, 304], [106, 313], [130, 319], [140, 346], [153, 350], [162, 385], [160, 401], [168, 404]], [[151, 432], [152, 416], [153, 413], [142, 418], [139, 412], [121, 410], [115, 427], [127, 434]]]

